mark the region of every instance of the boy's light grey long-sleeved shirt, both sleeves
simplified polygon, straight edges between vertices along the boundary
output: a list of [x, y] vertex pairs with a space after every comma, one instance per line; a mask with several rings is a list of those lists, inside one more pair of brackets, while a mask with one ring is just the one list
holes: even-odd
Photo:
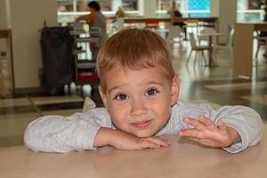
[[[237, 130], [242, 142], [223, 148], [231, 153], [255, 145], [263, 136], [263, 121], [255, 112], [244, 106], [224, 106], [214, 110], [206, 104], [191, 104], [178, 101], [171, 111], [165, 127], [157, 134], [177, 134], [182, 128], [189, 128], [184, 117], [205, 116], [216, 124], [220, 119], [225, 125]], [[70, 117], [44, 116], [28, 125], [24, 134], [25, 145], [30, 150], [44, 152], [69, 152], [72, 150], [94, 150], [95, 135], [101, 127], [113, 128], [109, 112], [104, 108], [91, 109]]]

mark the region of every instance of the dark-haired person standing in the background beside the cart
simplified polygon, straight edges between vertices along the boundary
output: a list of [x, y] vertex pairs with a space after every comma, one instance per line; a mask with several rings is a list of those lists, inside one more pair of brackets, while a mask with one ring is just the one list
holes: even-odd
[[[101, 6], [96, 1], [91, 1], [87, 4], [89, 9], [88, 15], [82, 15], [77, 17], [77, 21], [84, 20], [89, 24], [89, 28], [93, 31], [93, 28], [101, 28], [101, 35], [94, 35], [91, 33], [91, 36], [101, 37], [101, 45], [104, 44], [107, 39], [107, 20], [106, 17], [101, 13]], [[93, 59], [96, 58], [99, 51], [99, 47], [96, 44], [91, 44], [91, 51], [93, 53]]]

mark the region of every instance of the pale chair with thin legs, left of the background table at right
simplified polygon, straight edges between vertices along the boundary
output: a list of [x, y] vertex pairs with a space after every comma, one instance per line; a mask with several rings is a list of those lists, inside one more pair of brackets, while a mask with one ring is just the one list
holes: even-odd
[[209, 51], [210, 47], [208, 45], [198, 45], [193, 33], [190, 33], [189, 36], [190, 36], [191, 51], [190, 51], [190, 54], [187, 58], [186, 64], [188, 64], [188, 62], [190, 61], [190, 57], [191, 57], [192, 52], [195, 51], [196, 54], [195, 54], [194, 64], [196, 64], [198, 53], [201, 53], [203, 60], [204, 60], [204, 65], [206, 65], [206, 57], [205, 57], [204, 51]]

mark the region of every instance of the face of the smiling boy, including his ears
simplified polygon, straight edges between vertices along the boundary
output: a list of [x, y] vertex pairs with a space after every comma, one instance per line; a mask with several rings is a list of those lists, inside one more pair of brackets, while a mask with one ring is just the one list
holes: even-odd
[[178, 77], [172, 84], [162, 67], [148, 69], [113, 68], [104, 76], [106, 91], [100, 86], [105, 107], [117, 129], [138, 137], [149, 137], [166, 125], [171, 106], [179, 93]]

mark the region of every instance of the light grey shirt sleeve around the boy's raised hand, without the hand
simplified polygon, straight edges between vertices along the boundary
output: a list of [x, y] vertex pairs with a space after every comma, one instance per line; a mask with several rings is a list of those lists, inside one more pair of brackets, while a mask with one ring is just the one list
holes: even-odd
[[[206, 104], [184, 104], [181, 107], [182, 117], [205, 116], [215, 124], [222, 120], [225, 125], [234, 128], [241, 137], [241, 142], [234, 143], [228, 148], [223, 148], [230, 153], [238, 153], [260, 142], [263, 137], [263, 121], [260, 115], [251, 108], [245, 106], [224, 106], [214, 110]], [[190, 125], [181, 123], [182, 128], [190, 128]]]

